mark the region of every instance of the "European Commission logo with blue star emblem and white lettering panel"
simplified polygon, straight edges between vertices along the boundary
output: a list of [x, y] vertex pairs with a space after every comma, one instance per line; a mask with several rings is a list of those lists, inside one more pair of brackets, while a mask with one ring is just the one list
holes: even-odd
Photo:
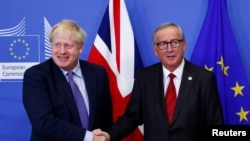
[[0, 29], [1, 81], [21, 81], [24, 71], [40, 62], [39, 36], [24, 33], [25, 19], [14, 28]]

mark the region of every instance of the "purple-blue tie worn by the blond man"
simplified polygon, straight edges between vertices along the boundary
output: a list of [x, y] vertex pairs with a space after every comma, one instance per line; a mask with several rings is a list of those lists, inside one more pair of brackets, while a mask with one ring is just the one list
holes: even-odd
[[67, 75], [77, 105], [77, 109], [80, 115], [82, 126], [88, 129], [88, 112], [82, 94], [79, 88], [77, 87], [75, 81], [73, 80], [74, 73], [69, 71]]

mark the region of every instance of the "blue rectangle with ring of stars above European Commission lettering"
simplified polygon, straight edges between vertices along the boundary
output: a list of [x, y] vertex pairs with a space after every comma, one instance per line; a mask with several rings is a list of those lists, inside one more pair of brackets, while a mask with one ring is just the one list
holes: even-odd
[[0, 62], [40, 62], [38, 36], [0, 36]]

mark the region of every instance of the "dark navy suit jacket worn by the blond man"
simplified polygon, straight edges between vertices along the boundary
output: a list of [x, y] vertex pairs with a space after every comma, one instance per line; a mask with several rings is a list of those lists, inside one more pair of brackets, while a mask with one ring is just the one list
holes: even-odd
[[[112, 103], [105, 69], [80, 60], [89, 97], [89, 129], [112, 124]], [[64, 74], [52, 59], [26, 70], [23, 104], [32, 125], [32, 141], [83, 141], [73, 94]]]

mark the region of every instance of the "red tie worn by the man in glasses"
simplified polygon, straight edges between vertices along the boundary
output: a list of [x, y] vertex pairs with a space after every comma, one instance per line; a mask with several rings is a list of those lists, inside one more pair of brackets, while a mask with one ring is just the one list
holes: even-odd
[[169, 85], [166, 92], [166, 109], [167, 109], [167, 116], [168, 116], [168, 123], [171, 124], [173, 115], [174, 115], [174, 109], [176, 104], [176, 90], [174, 86], [174, 79], [175, 75], [173, 73], [169, 74]]

